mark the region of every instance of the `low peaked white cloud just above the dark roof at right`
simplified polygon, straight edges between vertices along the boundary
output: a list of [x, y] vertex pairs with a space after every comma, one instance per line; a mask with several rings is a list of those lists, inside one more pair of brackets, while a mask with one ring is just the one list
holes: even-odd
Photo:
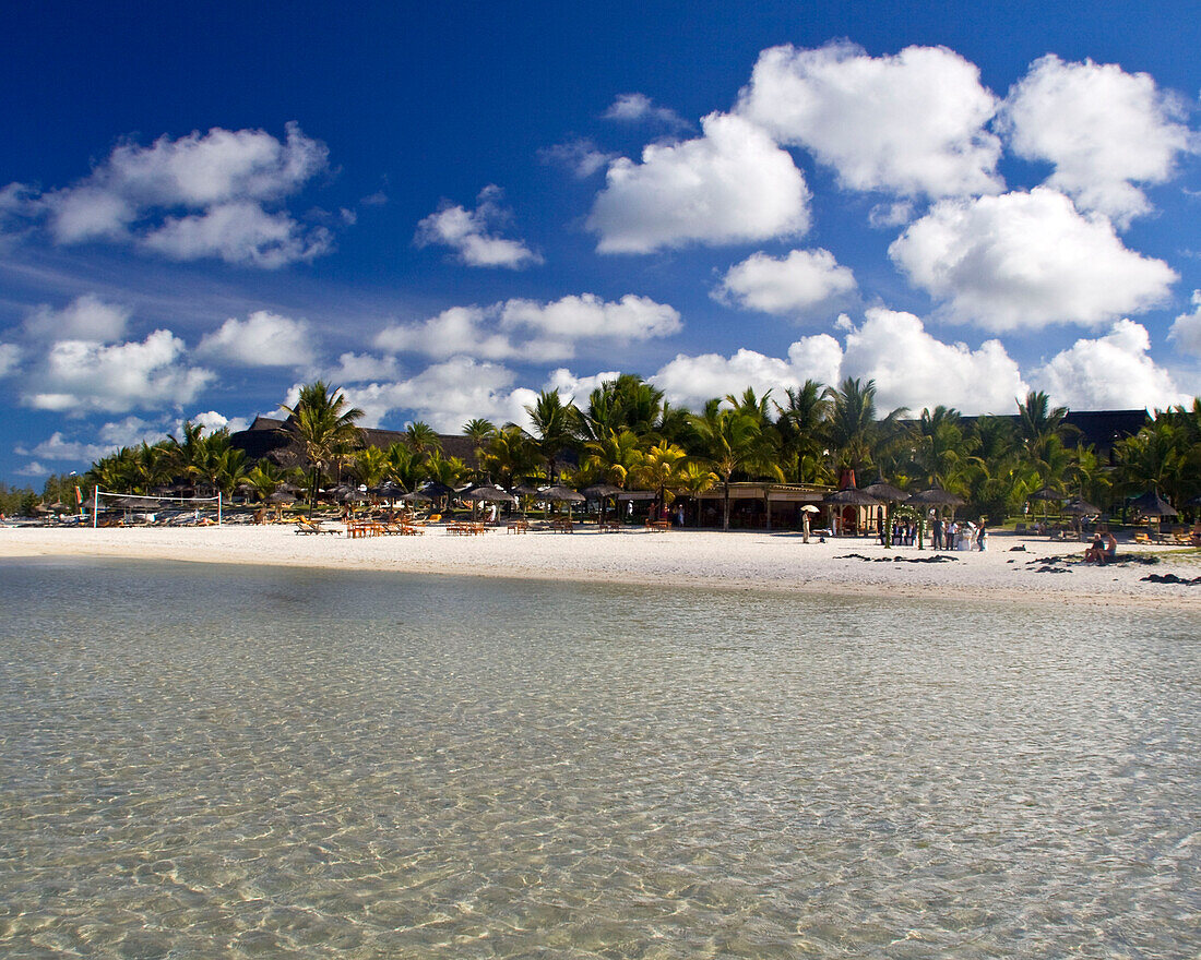
[[1078, 410], [1166, 408], [1191, 397], [1148, 355], [1146, 328], [1122, 319], [1103, 337], [1077, 340], [1030, 374], [1054, 403]]

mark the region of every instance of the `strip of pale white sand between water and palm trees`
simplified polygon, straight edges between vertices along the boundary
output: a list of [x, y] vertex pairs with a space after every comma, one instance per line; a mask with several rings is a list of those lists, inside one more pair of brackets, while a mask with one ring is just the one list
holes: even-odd
[[[454, 574], [524, 580], [610, 581], [663, 587], [724, 587], [796, 593], [888, 594], [1004, 602], [1154, 606], [1201, 611], [1201, 587], [1148, 583], [1148, 574], [1201, 575], [1201, 562], [1177, 558], [1155, 566], [1103, 568], [1059, 563], [1039, 572], [1047, 557], [1072, 558], [1082, 544], [996, 534], [988, 550], [958, 552], [946, 563], [886, 562], [934, 556], [928, 548], [885, 551], [865, 539], [801, 542], [793, 533], [628, 530], [599, 534], [533, 532], [449, 536], [435, 527], [423, 536], [297, 535], [291, 526], [144, 527], [86, 529], [0, 528], [0, 557], [119, 557], [191, 563], [269, 564], [337, 570]], [[1024, 547], [1024, 552], [1014, 547]], [[1121, 553], [1171, 551], [1133, 547]], [[858, 554], [867, 559], [849, 557]]]

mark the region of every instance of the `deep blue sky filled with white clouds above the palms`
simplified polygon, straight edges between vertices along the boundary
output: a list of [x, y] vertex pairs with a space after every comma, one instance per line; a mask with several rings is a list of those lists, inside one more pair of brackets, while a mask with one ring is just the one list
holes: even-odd
[[444, 432], [619, 371], [692, 407], [1184, 402], [1190, 6], [24, 5], [0, 478], [318, 377]]

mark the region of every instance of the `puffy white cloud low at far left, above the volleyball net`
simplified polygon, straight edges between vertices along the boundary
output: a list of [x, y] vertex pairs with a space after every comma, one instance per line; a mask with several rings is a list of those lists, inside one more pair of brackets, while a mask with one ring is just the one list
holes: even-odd
[[214, 379], [211, 371], [186, 366], [183, 355], [184, 342], [169, 330], [155, 330], [141, 343], [60, 341], [25, 378], [22, 402], [71, 413], [178, 407]]

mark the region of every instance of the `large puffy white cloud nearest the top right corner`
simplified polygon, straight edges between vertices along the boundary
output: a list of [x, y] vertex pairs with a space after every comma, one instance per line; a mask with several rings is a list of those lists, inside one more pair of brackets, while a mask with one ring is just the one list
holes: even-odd
[[1002, 115], [1014, 152], [1054, 164], [1050, 186], [1122, 226], [1151, 209], [1134, 184], [1170, 179], [1190, 149], [1183, 104], [1116, 64], [1048, 54], [1009, 91]]

